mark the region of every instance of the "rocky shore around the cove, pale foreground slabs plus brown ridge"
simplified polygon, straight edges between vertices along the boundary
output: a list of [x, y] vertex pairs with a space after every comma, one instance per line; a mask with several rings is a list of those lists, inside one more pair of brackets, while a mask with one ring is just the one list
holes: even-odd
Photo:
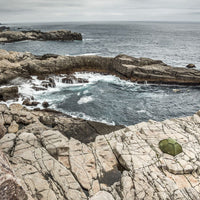
[[[200, 84], [199, 70], [148, 58], [36, 56], [0, 50], [1, 86], [36, 75], [44, 87], [51, 87], [49, 75], [67, 74], [63, 81], [70, 83], [75, 71], [114, 74], [138, 83]], [[16, 86], [0, 89], [1, 100], [17, 96]], [[50, 109], [0, 104], [0, 198], [199, 199], [199, 127], [200, 112], [124, 127], [74, 119]], [[166, 138], [175, 139], [183, 152], [175, 157], [163, 153], [158, 143]]]

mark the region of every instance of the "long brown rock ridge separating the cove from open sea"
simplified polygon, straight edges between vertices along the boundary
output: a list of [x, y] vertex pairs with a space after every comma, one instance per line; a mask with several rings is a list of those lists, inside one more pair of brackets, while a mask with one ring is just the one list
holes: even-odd
[[[71, 74], [76, 71], [113, 74], [138, 83], [200, 85], [200, 71], [171, 67], [159, 60], [119, 55], [100, 56], [34, 56], [30, 53], [0, 50], [0, 84], [16, 77]], [[71, 80], [64, 79], [63, 82]], [[52, 84], [52, 83], [51, 83]]]

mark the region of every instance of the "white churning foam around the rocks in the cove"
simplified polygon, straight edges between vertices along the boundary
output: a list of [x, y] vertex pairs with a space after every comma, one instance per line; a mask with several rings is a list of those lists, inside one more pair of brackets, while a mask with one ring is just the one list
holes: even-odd
[[[19, 87], [19, 94], [21, 94], [21, 98], [17, 101], [17, 103], [22, 104], [24, 98], [31, 98], [32, 96], [34, 97], [34, 101], [40, 102], [40, 104], [37, 106], [39, 108], [42, 108], [42, 102], [47, 101], [50, 104], [50, 108], [60, 110], [61, 112], [64, 112], [68, 115], [71, 115], [73, 117], [79, 117], [87, 120], [93, 120], [93, 121], [99, 121], [102, 123], [106, 124], [112, 124], [114, 125], [115, 123], [113, 121], [110, 122], [109, 119], [107, 118], [94, 118], [91, 116], [86, 115], [85, 113], [82, 112], [68, 112], [64, 111], [62, 109], [58, 109], [57, 105], [61, 102], [64, 102], [66, 99], [70, 98], [71, 92], [67, 92], [67, 90], [72, 90], [73, 92], [76, 92], [77, 96], [80, 96], [81, 98], [77, 101], [77, 104], [82, 105], [82, 104], [87, 104], [89, 102], [95, 101], [94, 96], [89, 94], [89, 87], [93, 84], [96, 84], [98, 81], [101, 82], [106, 82], [106, 83], [111, 83], [115, 85], [119, 85], [123, 87], [131, 87], [131, 89], [139, 87], [138, 84], [132, 83], [130, 81], [125, 81], [121, 80], [116, 76], [112, 75], [102, 75], [100, 73], [80, 73], [77, 72], [74, 74], [76, 78], [83, 78], [88, 80], [88, 83], [75, 83], [75, 84], [67, 84], [67, 83], [62, 83], [63, 77], [66, 77], [65, 74], [60, 75], [60, 76], [53, 76], [52, 78], [55, 81], [56, 87], [51, 88], [45, 88], [46, 90], [39, 90], [36, 91], [33, 89], [33, 87], [39, 87], [42, 88], [42, 81], [37, 79], [36, 76], [32, 76], [31, 80], [26, 80], [26, 81], [21, 81], [21, 80], [15, 80], [13, 82], [13, 85], [17, 83]], [[43, 87], [44, 88], [44, 87]], [[66, 92], [61, 92], [59, 91], [65, 91]], [[99, 89], [101, 90], [101, 89]], [[58, 92], [58, 93], [57, 93]], [[15, 103], [14, 101], [8, 101], [6, 102], [7, 105], [10, 105], [11, 103]], [[34, 108], [34, 107], [29, 107]]]

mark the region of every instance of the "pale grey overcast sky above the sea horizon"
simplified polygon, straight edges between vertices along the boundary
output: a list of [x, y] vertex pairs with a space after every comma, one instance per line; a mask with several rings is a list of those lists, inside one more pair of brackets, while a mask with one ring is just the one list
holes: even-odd
[[198, 21], [200, 0], [0, 0], [0, 22]]

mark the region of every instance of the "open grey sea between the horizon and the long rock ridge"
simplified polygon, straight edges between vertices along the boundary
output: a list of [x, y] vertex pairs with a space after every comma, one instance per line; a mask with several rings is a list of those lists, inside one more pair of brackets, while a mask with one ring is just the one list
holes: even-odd
[[172, 66], [194, 63], [200, 68], [200, 23], [176, 22], [81, 22], [11, 24], [12, 29], [43, 31], [68, 29], [83, 34], [83, 41], [22, 41], [0, 48], [34, 54], [97, 54], [160, 59]]

